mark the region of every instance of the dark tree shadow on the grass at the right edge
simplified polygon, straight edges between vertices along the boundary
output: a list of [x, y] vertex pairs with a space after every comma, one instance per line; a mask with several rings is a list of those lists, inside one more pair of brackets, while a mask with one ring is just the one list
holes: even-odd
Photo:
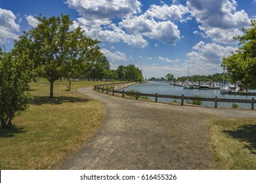
[[249, 143], [244, 147], [249, 149], [252, 154], [256, 154], [256, 125], [242, 125], [242, 127], [237, 130], [223, 132], [227, 133], [234, 139]]

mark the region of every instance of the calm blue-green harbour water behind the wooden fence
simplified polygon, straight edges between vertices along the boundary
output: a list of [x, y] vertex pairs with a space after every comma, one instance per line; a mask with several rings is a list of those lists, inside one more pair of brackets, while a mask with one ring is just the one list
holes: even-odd
[[[223, 99], [251, 99], [255, 96], [246, 96], [246, 95], [230, 95], [230, 94], [221, 94], [220, 90], [187, 90], [183, 89], [181, 86], [173, 86], [170, 85], [167, 82], [149, 82], [147, 84], [135, 84], [133, 86], [129, 86], [128, 88], [124, 89], [127, 90], [135, 90], [139, 91], [141, 93], [158, 93], [163, 95], [179, 95], [181, 96], [184, 94], [184, 96], [193, 96], [193, 95], [200, 95], [201, 97], [208, 97], [208, 98], [215, 98], [217, 96], [218, 98]], [[256, 90], [250, 90], [249, 92], [256, 92]], [[150, 99], [154, 100], [153, 97], [150, 97]], [[164, 99], [164, 98], [158, 98], [158, 101], [164, 101], [164, 102], [171, 102], [173, 99]], [[177, 99], [178, 102], [181, 102], [181, 100]], [[186, 103], [186, 101], [184, 101]], [[203, 105], [207, 107], [214, 107], [214, 102], [207, 102], [203, 101]], [[251, 108], [251, 104], [246, 103], [238, 103], [238, 105], [241, 108]], [[218, 107], [232, 107], [232, 103], [218, 103]]]

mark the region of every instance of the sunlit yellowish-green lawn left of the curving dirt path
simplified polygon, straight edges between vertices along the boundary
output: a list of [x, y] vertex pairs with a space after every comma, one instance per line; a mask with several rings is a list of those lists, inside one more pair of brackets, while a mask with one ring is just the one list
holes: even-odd
[[56, 81], [50, 99], [49, 82], [33, 82], [28, 110], [11, 129], [0, 127], [0, 169], [54, 169], [81, 147], [102, 124], [105, 108], [75, 90], [102, 83], [75, 81], [68, 91], [68, 81]]

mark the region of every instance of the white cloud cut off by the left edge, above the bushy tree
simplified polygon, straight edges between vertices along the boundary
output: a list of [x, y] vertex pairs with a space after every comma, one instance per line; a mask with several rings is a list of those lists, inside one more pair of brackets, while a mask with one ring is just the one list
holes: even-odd
[[15, 23], [16, 16], [10, 11], [0, 8], [0, 42], [6, 43], [18, 39], [15, 32], [20, 30], [20, 25]]

